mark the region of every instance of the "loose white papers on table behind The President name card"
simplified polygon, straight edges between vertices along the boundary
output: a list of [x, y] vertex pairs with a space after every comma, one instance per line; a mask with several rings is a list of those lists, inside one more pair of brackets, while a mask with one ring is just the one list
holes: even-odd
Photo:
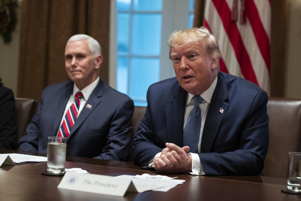
[[[156, 176], [161, 176], [161, 175], [156, 175]], [[149, 191], [149, 190], [154, 190], [154, 189], [160, 190], [161, 188], [162, 189], [160, 191], [166, 192], [169, 189], [177, 186], [178, 184], [182, 184], [183, 182], [185, 182], [185, 180], [178, 180], [178, 179], [160, 181], [157, 179], [136, 178], [136, 176], [132, 176], [132, 175], [120, 175], [117, 177], [130, 178], [139, 193]]]

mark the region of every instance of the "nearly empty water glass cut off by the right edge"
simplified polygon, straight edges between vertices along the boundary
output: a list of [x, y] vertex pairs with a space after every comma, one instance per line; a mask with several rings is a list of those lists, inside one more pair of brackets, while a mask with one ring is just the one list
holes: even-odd
[[301, 193], [301, 152], [288, 153], [288, 190]]

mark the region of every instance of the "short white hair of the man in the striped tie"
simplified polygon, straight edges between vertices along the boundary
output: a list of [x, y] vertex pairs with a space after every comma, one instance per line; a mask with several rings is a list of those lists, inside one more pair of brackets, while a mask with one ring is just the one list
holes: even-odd
[[[79, 41], [79, 40], [87, 40], [88, 41], [90, 52], [94, 59], [97, 57], [97, 55], [101, 54], [101, 46], [99, 45], [99, 43], [94, 38], [92, 38], [91, 36], [86, 35], [86, 34], [77, 34], [77, 35], [71, 36], [69, 38], [69, 40], [67, 41], [66, 47], [69, 42]], [[65, 47], [65, 50], [66, 50], [66, 47]]]

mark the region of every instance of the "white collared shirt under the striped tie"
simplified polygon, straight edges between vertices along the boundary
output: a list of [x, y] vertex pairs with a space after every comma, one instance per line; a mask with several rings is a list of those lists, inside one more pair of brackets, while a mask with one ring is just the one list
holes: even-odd
[[60, 126], [59, 126], [59, 128], [58, 128], [58, 131], [57, 131], [57, 133], [56, 133], [56, 136], [58, 136], [58, 134], [59, 134], [59, 131], [60, 131], [62, 122], [63, 122], [63, 120], [64, 120], [64, 117], [65, 117], [65, 115], [66, 115], [68, 109], [70, 108], [70, 106], [71, 106], [71, 105], [73, 104], [73, 102], [74, 102], [76, 93], [77, 93], [78, 91], [81, 91], [81, 92], [82, 92], [82, 95], [83, 95], [83, 97], [80, 98], [81, 104], [79, 105], [79, 110], [78, 110], [78, 112], [77, 112], [77, 117], [78, 117], [79, 114], [80, 114], [81, 111], [82, 111], [82, 108], [84, 108], [84, 106], [86, 105], [86, 102], [87, 102], [88, 98], [89, 98], [90, 95], [92, 94], [92, 91], [94, 90], [94, 88], [95, 88], [96, 85], [98, 84], [99, 79], [100, 79], [100, 78], [99, 78], [99, 76], [98, 76], [98, 78], [97, 78], [94, 82], [92, 82], [91, 84], [89, 84], [88, 86], [86, 86], [85, 88], [83, 88], [82, 90], [79, 90], [79, 89], [77, 88], [76, 84], [74, 83], [74, 85], [73, 85], [73, 92], [72, 92], [72, 94], [70, 95], [69, 100], [68, 100], [68, 102], [67, 102], [67, 105], [66, 105], [66, 107], [65, 107], [65, 111], [64, 111], [64, 114], [63, 114], [63, 116], [62, 116], [61, 123], [60, 123]]

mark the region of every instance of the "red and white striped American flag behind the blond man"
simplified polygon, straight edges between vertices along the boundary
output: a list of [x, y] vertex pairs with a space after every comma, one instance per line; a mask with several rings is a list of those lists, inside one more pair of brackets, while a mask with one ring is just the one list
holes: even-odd
[[218, 41], [220, 70], [270, 95], [271, 0], [207, 0], [204, 26]]

